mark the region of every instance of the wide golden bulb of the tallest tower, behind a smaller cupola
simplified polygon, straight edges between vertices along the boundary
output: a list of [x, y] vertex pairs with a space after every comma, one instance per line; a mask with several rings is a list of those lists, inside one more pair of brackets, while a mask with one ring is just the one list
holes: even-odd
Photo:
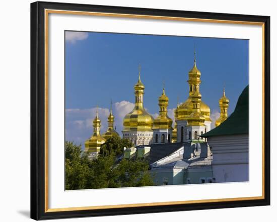
[[[191, 98], [188, 97], [188, 99], [181, 103], [179, 107], [177, 108], [177, 119], [178, 120], [186, 120], [188, 116], [193, 112], [193, 103], [191, 102]], [[202, 116], [204, 116], [206, 121], [212, 121], [210, 118], [210, 107], [205, 104], [203, 101], [200, 102], [200, 113]]]

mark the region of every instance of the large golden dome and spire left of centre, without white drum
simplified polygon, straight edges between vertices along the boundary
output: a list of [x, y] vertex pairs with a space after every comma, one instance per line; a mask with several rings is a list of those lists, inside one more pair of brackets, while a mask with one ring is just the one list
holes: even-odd
[[143, 104], [145, 86], [141, 81], [141, 72], [138, 73], [138, 81], [134, 85], [135, 105], [133, 110], [123, 119], [124, 129], [126, 131], [152, 131], [153, 117], [145, 110]]

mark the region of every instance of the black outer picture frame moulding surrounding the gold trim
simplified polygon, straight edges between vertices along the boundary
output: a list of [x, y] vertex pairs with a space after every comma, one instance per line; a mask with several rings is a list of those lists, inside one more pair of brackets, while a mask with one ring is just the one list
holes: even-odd
[[[45, 211], [45, 9], [263, 23], [264, 199], [55, 212]], [[270, 205], [270, 17], [48, 2], [35, 2], [31, 4], [31, 218], [39, 220], [260, 205]]]

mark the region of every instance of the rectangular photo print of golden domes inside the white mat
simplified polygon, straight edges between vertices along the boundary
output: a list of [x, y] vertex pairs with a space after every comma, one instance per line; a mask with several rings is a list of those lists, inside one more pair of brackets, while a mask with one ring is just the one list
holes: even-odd
[[65, 190], [249, 181], [248, 40], [64, 35]]

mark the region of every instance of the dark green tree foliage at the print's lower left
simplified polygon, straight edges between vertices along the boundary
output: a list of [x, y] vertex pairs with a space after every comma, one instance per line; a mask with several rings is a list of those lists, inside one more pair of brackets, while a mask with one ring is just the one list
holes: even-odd
[[81, 145], [65, 142], [65, 189], [152, 186], [149, 164], [144, 159], [118, 159], [129, 141], [109, 138], [96, 159], [88, 158]]

